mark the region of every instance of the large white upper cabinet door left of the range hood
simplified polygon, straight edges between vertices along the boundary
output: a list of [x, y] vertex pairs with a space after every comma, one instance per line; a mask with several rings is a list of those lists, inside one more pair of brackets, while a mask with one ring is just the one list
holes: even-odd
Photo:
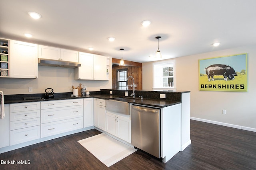
[[38, 78], [38, 45], [10, 40], [10, 77]]

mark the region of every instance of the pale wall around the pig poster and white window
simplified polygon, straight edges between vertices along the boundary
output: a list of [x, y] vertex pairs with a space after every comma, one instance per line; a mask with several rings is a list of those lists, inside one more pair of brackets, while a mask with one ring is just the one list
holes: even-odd
[[[199, 59], [241, 53], [248, 53], [248, 92], [199, 91]], [[152, 89], [152, 63], [142, 63], [142, 88], [145, 90]], [[191, 117], [253, 128], [252, 131], [256, 129], [255, 74], [256, 45], [176, 58], [176, 87], [191, 91]], [[222, 114], [222, 109], [226, 109], [226, 115]]]

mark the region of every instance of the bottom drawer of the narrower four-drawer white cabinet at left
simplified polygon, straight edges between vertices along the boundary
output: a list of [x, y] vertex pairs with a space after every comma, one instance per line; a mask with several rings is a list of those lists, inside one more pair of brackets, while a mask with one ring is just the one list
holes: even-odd
[[10, 145], [40, 139], [40, 125], [10, 131]]

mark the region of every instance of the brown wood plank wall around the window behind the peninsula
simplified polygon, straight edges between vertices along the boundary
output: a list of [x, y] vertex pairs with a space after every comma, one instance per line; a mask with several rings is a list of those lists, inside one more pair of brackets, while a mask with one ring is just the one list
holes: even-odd
[[[135, 90], [142, 90], [142, 66], [115, 66], [112, 67], [112, 88], [116, 89], [117, 87], [117, 70], [127, 68], [127, 77], [133, 76], [134, 84], [137, 84]], [[132, 84], [132, 79], [129, 78], [128, 85]], [[128, 86], [128, 90], [132, 90], [131, 86]]]

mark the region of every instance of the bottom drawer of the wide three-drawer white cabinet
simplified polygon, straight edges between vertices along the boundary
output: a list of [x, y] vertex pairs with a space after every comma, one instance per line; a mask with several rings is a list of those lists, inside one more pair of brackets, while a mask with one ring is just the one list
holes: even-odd
[[41, 125], [42, 138], [83, 128], [83, 117], [44, 123]]

